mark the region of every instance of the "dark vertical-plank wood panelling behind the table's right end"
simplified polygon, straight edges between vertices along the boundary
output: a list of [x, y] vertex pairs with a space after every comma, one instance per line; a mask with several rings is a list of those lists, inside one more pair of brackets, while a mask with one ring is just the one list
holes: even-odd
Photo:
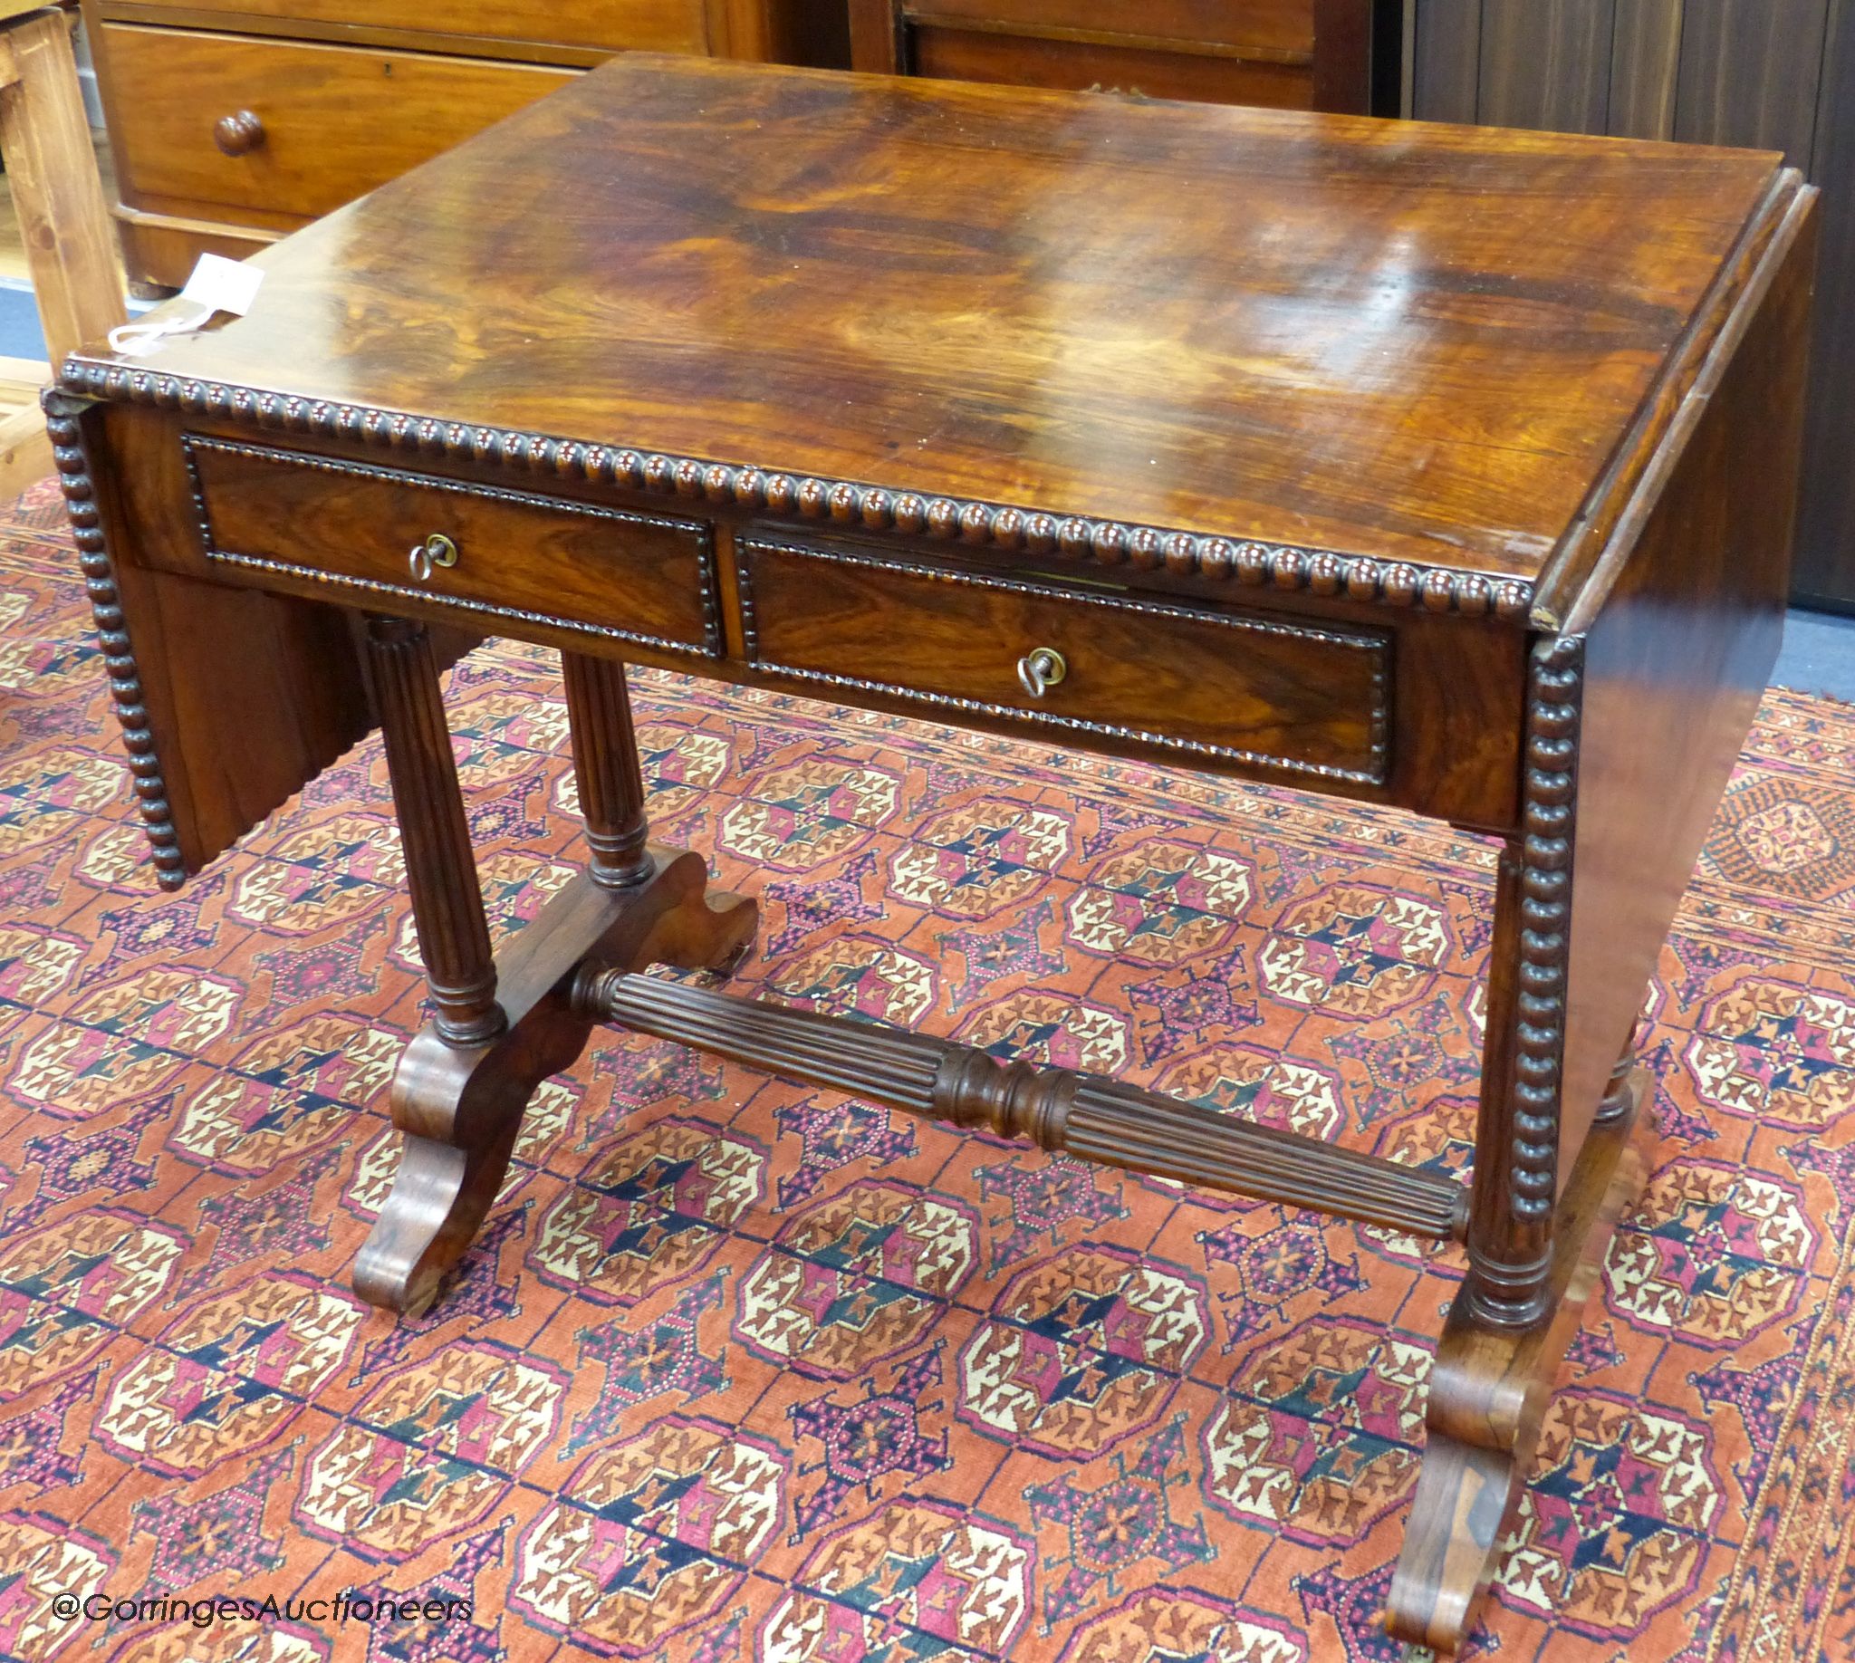
[[1855, 611], [1855, 0], [1414, 0], [1412, 113], [1783, 150], [1822, 189], [1801, 605]]

